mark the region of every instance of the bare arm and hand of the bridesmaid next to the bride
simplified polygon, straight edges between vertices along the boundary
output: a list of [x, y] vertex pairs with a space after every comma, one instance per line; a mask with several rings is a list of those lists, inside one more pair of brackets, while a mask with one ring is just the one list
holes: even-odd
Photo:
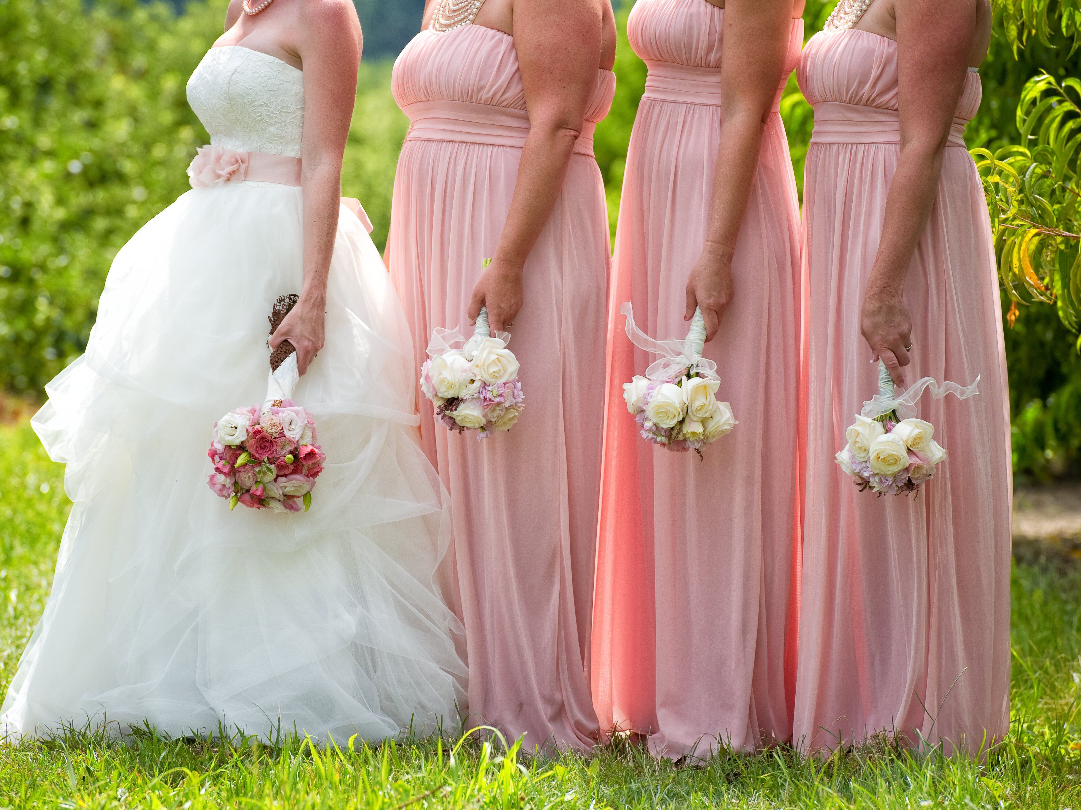
[[521, 309], [522, 268], [562, 188], [597, 81], [602, 21], [598, 0], [515, 3], [512, 32], [530, 134], [495, 255], [469, 303], [473, 321], [488, 307], [493, 329], [506, 328]]

